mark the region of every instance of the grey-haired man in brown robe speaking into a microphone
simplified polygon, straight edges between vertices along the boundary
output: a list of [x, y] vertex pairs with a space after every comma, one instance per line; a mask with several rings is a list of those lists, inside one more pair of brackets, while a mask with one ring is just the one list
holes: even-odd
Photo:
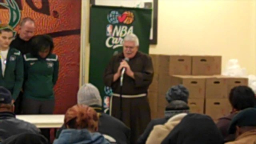
[[[123, 45], [123, 52], [112, 57], [104, 72], [104, 84], [110, 86], [114, 93], [111, 98], [110, 114], [131, 128], [130, 142], [134, 144], [150, 122], [147, 91], [154, 70], [150, 56], [138, 51], [139, 40], [135, 34], [126, 35]], [[122, 68], [126, 70], [121, 88]]]

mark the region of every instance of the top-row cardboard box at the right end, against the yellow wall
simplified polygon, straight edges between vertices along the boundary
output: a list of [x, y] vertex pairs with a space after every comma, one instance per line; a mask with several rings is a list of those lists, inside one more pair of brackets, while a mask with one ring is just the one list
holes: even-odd
[[221, 56], [192, 56], [192, 75], [221, 74]]

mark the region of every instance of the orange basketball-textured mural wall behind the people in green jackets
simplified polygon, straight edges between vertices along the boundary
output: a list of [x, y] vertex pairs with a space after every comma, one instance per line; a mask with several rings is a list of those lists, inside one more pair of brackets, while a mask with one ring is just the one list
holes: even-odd
[[[36, 22], [36, 34], [54, 38], [54, 53], [60, 60], [55, 90], [55, 114], [64, 114], [76, 104], [80, 70], [81, 0], [0, 0], [0, 4], [18, 5], [21, 18]], [[0, 22], [8, 24], [10, 9], [0, 6]], [[18, 32], [18, 27], [15, 30]]]

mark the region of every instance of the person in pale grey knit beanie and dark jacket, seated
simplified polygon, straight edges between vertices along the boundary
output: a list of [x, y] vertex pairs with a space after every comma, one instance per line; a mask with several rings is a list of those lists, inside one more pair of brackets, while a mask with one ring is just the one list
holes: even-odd
[[[94, 108], [99, 114], [100, 122], [98, 132], [103, 134], [106, 139], [111, 139], [112, 137], [116, 141], [114, 143], [130, 144], [130, 129], [120, 120], [102, 112], [102, 99], [98, 88], [92, 84], [84, 84], [78, 91], [77, 102], [78, 104], [85, 104]], [[65, 129], [64, 125], [57, 132], [56, 138], [58, 138], [63, 129]], [[112, 140], [110, 141], [112, 142]]]

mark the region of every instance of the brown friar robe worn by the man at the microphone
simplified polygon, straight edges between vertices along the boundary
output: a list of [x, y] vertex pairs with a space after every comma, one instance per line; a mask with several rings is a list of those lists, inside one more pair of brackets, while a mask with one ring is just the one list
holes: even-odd
[[[113, 93], [120, 94], [120, 78], [113, 82], [113, 76], [117, 72], [120, 62], [124, 60], [124, 54], [120, 53], [112, 57], [104, 72], [104, 84], [110, 86]], [[152, 82], [154, 69], [150, 56], [142, 52], [131, 58], [128, 62], [134, 72], [134, 78], [124, 74], [122, 94], [145, 94]], [[112, 97], [111, 115], [120, 119], [120, 97]], [[131, 143], [135, 143], [150, 122], [150, 108], [146, 96], [140, 98], [122, 98], [122, 121], [131, 128]]]

